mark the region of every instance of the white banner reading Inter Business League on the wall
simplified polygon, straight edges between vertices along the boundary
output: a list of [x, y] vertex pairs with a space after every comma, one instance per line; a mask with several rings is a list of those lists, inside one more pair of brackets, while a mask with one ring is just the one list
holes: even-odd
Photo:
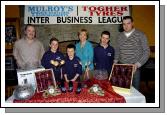
[[128, 5], [25, 6], [24, 24], [121, 24]]

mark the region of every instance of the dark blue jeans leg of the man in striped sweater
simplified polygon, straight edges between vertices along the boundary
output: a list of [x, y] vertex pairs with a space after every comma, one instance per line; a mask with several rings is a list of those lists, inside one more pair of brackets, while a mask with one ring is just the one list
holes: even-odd
[[140, 89], [140, 68], [137, 69], [136, 72], [133, 74], [132, 85], [135, 89]]

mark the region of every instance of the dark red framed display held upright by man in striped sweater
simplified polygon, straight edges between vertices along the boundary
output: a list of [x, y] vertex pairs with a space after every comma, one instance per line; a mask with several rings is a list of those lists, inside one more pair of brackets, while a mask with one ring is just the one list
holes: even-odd
[[132, 64], [113, 64], [109, 80], [118, 93], [130, 93], [134, 66]]

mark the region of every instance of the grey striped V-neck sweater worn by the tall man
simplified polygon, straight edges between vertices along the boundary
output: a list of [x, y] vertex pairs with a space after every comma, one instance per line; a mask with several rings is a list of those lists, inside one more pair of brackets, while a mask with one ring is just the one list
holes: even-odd
[[115, 48], [115, 60], [125, 64], [140, 63], [141, 66], [148, 60], [150, 49], [147, 37], [139, 30], [126, 37], [122, 32], [118, 35]]

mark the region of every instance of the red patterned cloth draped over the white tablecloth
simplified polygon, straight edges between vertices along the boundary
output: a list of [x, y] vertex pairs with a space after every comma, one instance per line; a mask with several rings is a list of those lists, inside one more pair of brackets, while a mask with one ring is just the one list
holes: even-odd
[[[97, 94], [90, 94], [88, 88], [93, 84], [99, 86], [105, 91], [104, 96]], [[36, 93], [29, 100], [14, 100], [14, 103], [125, 103], [123, 96], [113, 91], [112, 85], [107, 80], [93, 79], [87, 82], [88, 88], [82, 88], [80, 94], [75, 93], [77, 84], [74, 83], [74, 91], [69, 93], [62, 93], [61, 95], [43, 98], [42, 93]]]

